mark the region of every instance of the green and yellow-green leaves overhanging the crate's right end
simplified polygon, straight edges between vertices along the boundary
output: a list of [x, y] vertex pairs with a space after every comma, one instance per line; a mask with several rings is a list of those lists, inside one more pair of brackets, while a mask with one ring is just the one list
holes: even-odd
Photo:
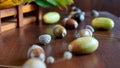
[[44, 8], [67, 8], [67, 5], [74, 3], [74, 0], [35, 0], [35, 3]]

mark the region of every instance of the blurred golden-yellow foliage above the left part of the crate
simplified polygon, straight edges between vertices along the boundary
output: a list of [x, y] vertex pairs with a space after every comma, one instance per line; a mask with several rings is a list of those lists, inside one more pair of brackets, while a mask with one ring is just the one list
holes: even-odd
[[0, 9], [14, 7], [30, 1], [32, 2], [32, 0], [0, 0]]

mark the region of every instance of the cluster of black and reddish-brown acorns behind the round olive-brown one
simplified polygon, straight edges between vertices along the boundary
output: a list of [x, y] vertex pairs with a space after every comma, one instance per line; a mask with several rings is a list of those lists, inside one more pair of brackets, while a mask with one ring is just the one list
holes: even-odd
[[65, 17], [62, 21], [64, 27], [68, 29], [76, 29], [80, 22], [85, 20], [85, 12], [81, 11], [81, 9], [73, 6], [71, 8], [70, 14]]

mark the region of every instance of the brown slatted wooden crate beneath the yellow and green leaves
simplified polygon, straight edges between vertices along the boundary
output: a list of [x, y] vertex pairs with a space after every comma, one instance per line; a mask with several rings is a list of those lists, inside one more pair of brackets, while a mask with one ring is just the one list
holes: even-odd
[[[35, 12], [34, 17], [29, 17], [29, 18], [24, 17], [24, 13], [28, 13], [32, 11]], [[13, 22], [3, 23], [1, 21], [2, 18], [13, 16], [13, 15], [17, 15], [17, 19], [16, 20], [13, 19], [12, 20]], [[42, 17], [41, 15], [42, 15], [42, 8], [34, 4], [19, 5], [13, 8], [9, 8], [9, 9], [2, 9], [0, 10], [0, 33], [16, 28], [16, 27], [20, 28], [31, 22], [38, 21], [41, 19]]]

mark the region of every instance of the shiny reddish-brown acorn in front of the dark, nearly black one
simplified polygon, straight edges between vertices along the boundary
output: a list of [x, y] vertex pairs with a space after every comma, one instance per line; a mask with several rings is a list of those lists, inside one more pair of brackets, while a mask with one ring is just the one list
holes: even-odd
[[71, 18], [67, 19], [66, 21], [64, 19], [63, 25], [68, 29], [76, 29], [78, 27], [77, 21]]

